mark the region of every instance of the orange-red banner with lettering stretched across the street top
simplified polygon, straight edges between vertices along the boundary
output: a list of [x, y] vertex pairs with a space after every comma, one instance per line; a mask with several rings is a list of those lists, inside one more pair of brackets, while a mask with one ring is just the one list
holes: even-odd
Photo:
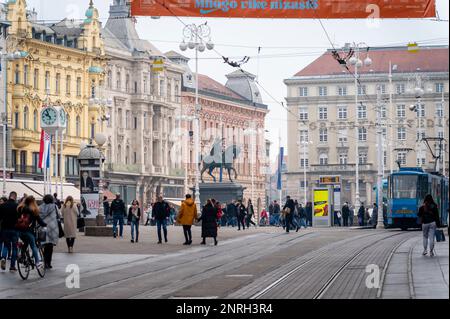
[[433, 18], [436, 0], [132, 0], [134, 16], [221, 18]]

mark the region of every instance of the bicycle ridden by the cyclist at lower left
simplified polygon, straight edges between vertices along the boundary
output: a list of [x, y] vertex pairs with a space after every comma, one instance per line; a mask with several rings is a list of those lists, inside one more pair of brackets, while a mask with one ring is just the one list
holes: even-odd
[[[39, 253], [39, 258], [41, 261], [44, 260], [44, 253], [41, 242], [37, 236], [37, 230], [35, 231], [35, 240], [36, 246]], [[19, 275], [23, 280], [27, 280], [30, 275], [31, 269], [35, 269], [39, 275], [39, 277], [44, 278], [45, 276], [45, 267], [37, 267], [34, 261], [33, 252], [31, 251], [31, 245], [24, 243], [24, 241], [19, 238], [17, 242], [17, 249], [19, 250], [19, 257], [17, 258], [17, 268], [19, 270]]]

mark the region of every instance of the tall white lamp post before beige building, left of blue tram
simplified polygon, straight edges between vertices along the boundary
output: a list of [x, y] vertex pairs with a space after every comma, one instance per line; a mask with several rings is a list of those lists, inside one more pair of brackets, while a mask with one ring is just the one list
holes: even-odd
[[356, 183], [355, 183], [355, 211], [359, 210], [359, 204], [360, 204], [360, 199], [359, 199], [359, 119], [358, 119], [358, 83], [359, 83], [359, 78], [358, 78], [358, 69], [362, 68], [363, 66], [369, 67], [372, 65], [372, 59], [369, 57], [369, 54], [367, 53], [366, 58], [364, 59], [364, 62], [360, 59], [361, 53], [360, 53], [360, 49], [366, 47], [367, 48], [367, 52], [369, 51], [368, 49], [368, 45], [364, 42], [361, 43], [354, 43], [353, 44], [353, 49], [355, 51], [355, 54], [349, 59], [349, 62], [351, 65], [353, 65], [355, 67], [355, 73], [354, 73], [354, 78], [355, 78], [355, 115], [356, 115], [356, 120], [358, 121], [358, 125], [355, 128], [355, 137], [356, 137], [356, 143], [355, 143], [355, 166], [356, 166]]

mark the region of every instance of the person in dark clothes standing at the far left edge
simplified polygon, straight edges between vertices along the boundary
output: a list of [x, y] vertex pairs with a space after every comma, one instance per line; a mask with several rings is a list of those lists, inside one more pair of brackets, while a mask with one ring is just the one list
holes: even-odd
[[17, 220], [17, 193], [11, 192], [9, 198], [0, 206], [0, 265], [1, 269], [6, 269], [6, 259], [11, 255], [10, 272], [17, 271], [17, 242], [19, 240], [16, 230]]

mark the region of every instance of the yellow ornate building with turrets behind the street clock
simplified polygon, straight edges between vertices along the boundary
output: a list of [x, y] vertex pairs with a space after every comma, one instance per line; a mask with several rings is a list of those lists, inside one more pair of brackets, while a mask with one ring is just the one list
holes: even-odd
[[[40, 112], [54, 105], [63, 106], [68, 117], [60, 172], [76, 180], [80, 145], [103, 126], [102, 108], [94, 100], [106, 64], [98, 11], [91, 1], [84, 21], [40, 24], [27, 12], [25, 0], [8, 1], [7, 10], [7, 51], [21, 53], [7, 63], [13, 176], [40, 178]], [[54, 154], [53, 147], [53, 172]]]

